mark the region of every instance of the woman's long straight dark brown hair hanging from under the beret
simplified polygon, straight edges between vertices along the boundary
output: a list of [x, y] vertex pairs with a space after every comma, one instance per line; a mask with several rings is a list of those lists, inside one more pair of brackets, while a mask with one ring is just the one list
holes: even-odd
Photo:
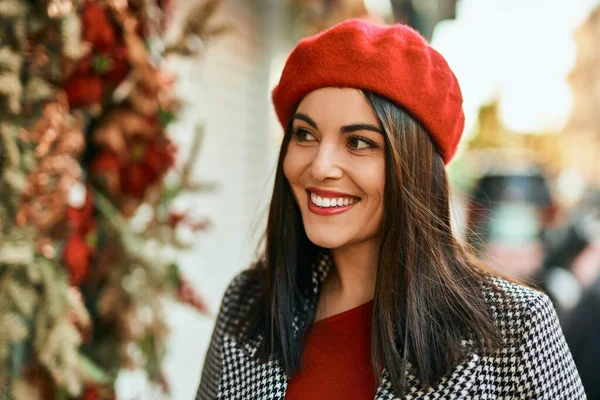
[[[426, 130], [393, 102], [364, 92], [386, 136], [382, 241], [375, 287], [372, 360], [394, 390], [405, 390], [405, 361], [424, 387], [463, 361], [469, 347], [499, 347], [501, 337], [482, 294], [489, 279], [453, 235], [449, 186], [442, 157]], [[260, 296], [240, 333], [260, 340], [257, 357], [276, 358], [287, 376], [301, 367], [303, 335], [292, 329], [298, 307], [314, 296], [310, 265], [324, 249], [310, 242], [283, 173], [291, 137], [289, 122], [279, 154], [269, 209], [265, 250], [254, 271]], [[317, 294], [318, 299], [318, 294]], [[308, 333], [313, 301], [296, 320]]]

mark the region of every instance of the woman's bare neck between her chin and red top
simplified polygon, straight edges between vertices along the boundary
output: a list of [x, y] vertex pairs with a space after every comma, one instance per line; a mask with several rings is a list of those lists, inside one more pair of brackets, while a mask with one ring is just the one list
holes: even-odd
[[330, 297], [356, 305], [375, 295], [379, 243], [366, 241], [331, 250], [334, 268], [326, 279]]

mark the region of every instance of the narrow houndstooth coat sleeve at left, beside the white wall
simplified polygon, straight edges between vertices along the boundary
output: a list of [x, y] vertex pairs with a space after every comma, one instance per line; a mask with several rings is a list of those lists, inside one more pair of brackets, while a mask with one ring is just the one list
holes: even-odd
[[221, 354], [223, 336], [230, 328], [230, 321], [232, 318], [235, 318], [241, 297], [240, 287], [245, 276], [246, 271], [242, 271], [231, 281], [225, 290], [206, 357], [204, 358], [204, 366], [200, 375], [200, 385], [198, 386], [195, 400], [215, 400], [217, 398], [223, 361]]

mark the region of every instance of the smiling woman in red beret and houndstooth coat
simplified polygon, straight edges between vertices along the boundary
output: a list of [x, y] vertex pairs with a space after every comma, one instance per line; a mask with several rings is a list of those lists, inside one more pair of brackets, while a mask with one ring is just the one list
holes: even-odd
[[585, 398], [548, 298], [457, 242], [447, 63], [403, 25], [301, 41], [262, 257], [224, 295], [197, 399]]

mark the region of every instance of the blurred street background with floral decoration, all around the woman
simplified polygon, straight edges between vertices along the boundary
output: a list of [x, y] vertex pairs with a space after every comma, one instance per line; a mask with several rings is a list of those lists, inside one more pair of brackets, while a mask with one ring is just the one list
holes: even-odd
[[2, 395], [194, 397], [265, 227], [270, 92], [355, 17], [448, 60], [456, 231], [548, 293], [600, 399], [599, 0], [1, 0]]

